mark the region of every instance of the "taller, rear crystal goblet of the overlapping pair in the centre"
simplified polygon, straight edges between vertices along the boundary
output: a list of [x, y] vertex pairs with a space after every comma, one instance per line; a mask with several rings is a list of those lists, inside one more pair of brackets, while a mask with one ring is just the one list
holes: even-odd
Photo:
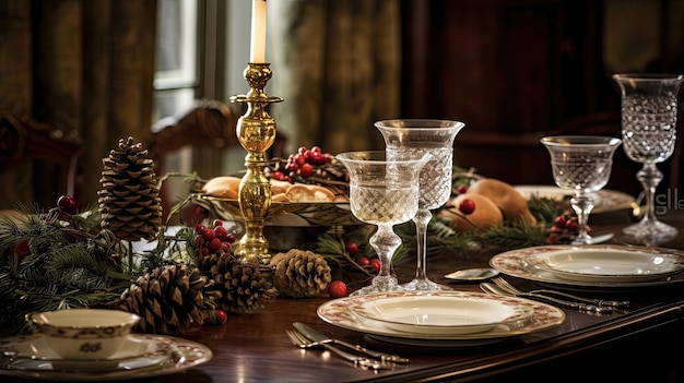
[[427, 225], [433, 217], [431, 210], [440, 207], [451, 196], [453, 140], [464, 125], [460, 121], [429, 119], [396, 119], [375, 123], [385, 137], [388, 152], [429, 153], [432, 155], [421, 170], [418, 211], [413, 217], [417, 237], [417, 267], [415, 277], [402, 285], [406, 290], [451, 289], [427, 277]]

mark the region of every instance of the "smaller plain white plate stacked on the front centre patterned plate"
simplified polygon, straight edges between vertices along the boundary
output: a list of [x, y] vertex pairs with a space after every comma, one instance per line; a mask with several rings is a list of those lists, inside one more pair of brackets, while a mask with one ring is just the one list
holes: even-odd
[[379, 298], [352, 307], [356, 315], [387, 327], [415, 334], [474, 334], [497, 325], [524, 325], [532, 319], [527, 306], [510, 306], [471, 297]]

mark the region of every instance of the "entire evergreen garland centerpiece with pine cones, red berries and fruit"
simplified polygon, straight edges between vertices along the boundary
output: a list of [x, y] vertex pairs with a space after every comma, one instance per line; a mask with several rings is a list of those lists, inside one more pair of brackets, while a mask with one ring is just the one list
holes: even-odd
[[[281, 188], [310, 185], [314, 191], [329, 189], [335, 199], [349, 196], [343, 167], [317, 147], [276, 158], [267, 173]], [[188, 181], [207, 183], [197, 177]], [[101, 183], [95, 207], [79, 211], [76, 201], [63, 195], [55, 207], [17, 206], [19, 215], [0, 217], [4, 335], [34, 331], [23, 320], [30, 312], [72, 308], [125, 310], [143, 319], [139, 331], [181, 334], [225, 322], [231, 314], [264, 309], [279, 295], [340, 297], [346, 284], [361, 286], [378, 271], [377, 255], [367, 246], [374, 227], [356, 222], [323, 227], [300, 247], [275, 252], [269, 264], [238, 261], [233, 252], [238, 234], [228, 231], [224, 217], [212, 217], [193, 204], [192, 195], [169, 214], [180, 212], [186, 224], [167, 234], [154, 163], [132, 137], [120, 140], [103, 159]], [[522, 205], [518, 196], [508, 195], [519, 208], [518, 215], [511, 213], [505, 199], [491, 190], [496, 185], [499, 192], [510, 192], [502, 183], [456, 168], [453, 199], [428, 226], [429, 254], [476, 256], [565, 243], [576, 235], [576, 217], [559, 211], [556, 201], [533, 198]], [[396, 231], [403, 244], [393, 261], [403, 262], [413, 253], [415, 228], [408, 223]], [[137, 252], [132, 243], [140, 240], [154, 240], [155, 246]]]

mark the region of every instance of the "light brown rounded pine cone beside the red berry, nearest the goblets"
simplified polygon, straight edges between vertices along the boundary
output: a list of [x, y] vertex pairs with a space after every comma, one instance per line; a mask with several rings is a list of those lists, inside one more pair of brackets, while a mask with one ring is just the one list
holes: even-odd
[[308, 250], [293, 249], [271, 260], [275, 266], [273, 286], [292, 298], [310, 298], [328, 288], [332, 279], [328, 262]]

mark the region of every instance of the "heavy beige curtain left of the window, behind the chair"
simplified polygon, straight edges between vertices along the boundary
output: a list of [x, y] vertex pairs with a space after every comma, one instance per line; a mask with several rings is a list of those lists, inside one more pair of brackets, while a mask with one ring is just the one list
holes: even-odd
[[[155, 16], [155, 0], [0, 0], [0, 110], [80, 136], [81, 205], [118, 140], [150, 130]], [[0, 171], [0, 207], [35, 201], [30, 168]]]

